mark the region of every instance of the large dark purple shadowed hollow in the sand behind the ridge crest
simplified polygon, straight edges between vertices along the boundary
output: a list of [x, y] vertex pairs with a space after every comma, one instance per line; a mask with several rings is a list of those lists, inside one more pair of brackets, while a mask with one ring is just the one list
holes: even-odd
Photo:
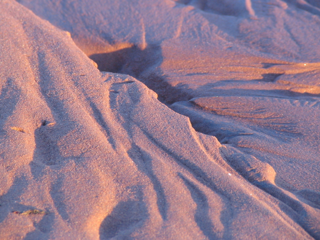
[[[163, 61], [160, 46], [150, 45], [144, 50], [132, 46], [114, 52], [92, 54], [89, 58], [98, 64], [100, 71], [127, 74], [138, 79], [156, 92], [158, 100], [163, 103], [171, 104], [178, 100], [192, 98], [186, 92], [171, 86], [165, 80], [166, 76], [161, 70], [156, 69]], [[150, 69], [152, 70], [150, 71]], [[113, 92], [117, 93], [117, 91]]]

